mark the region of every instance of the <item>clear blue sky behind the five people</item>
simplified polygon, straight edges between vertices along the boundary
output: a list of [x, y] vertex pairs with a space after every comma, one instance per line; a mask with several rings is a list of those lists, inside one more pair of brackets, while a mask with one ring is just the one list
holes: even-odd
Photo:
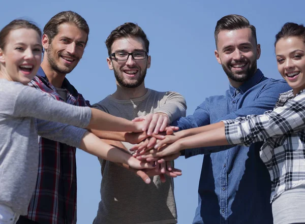
[[[258, 68], [265, 76], [280, 79], [273, 42], [285, 22], [304, 23], [305, 1], [2, 1], [0, 28], [11, 20], [25, 18], [40, 28], [56, 13], [72, 10], [83, 16], [89, 27], [89, 41], [70, 82], [85, 99], [96, 103], [115, 91], [113, 72], [107, 67], [105, 40], [124, 22], [138, 23], [149, 41], [151, 67], [148, 88], [174, 90], [186, 98], [187, 114], [210, 95], [224, 94], [228, 79], [215, 55], [216, 22], [227, 14], [240, 14], [256, 26], [261, 57]], [[180, 157], [175, 166], [182, 176], [175, 178], [178, 223], [191, 223], [197, 207], [197, 189], [203, 156]], [[100, 201], [98, 159], [77, 151], [78, 223], [92, 223]], [[251, 193], [249, 193], [251, 194]], [[149, 203], [149, 202], [147, 202]]]

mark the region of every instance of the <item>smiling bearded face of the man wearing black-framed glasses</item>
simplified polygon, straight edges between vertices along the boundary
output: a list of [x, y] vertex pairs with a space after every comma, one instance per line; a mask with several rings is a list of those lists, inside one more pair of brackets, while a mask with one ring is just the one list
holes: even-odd
[[[141, 38], [120, 38], [113, 42], [111, 53], [147, 51]], [[145, 59], [135, 60], [130, 55], [127, 60], [107, 58], [108, 67], [114, 71], [117, 84], [127, 88], [136, 88], [144, 85], [146, 70], [150, 67], [150, 56]]]

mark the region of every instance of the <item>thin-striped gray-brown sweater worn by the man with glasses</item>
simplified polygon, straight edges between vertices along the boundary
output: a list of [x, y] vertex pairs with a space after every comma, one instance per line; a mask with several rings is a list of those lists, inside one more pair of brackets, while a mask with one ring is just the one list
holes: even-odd
[[[186, 115], [186, 102], [176, 92], [148, 89], [137, 99], [120, 101], [111, 95], [93, 105], [118, 117], [129, 120], [148, 113], [167, 113], [171, 121]], [[123, 142], [127, 149], [132, 144]], [[134, 173], [104, 159], [101, 164], [101, 202], [94, 224], [168, 224], [177, 223], [173, 179], [159, 176], [146, 184]]]

